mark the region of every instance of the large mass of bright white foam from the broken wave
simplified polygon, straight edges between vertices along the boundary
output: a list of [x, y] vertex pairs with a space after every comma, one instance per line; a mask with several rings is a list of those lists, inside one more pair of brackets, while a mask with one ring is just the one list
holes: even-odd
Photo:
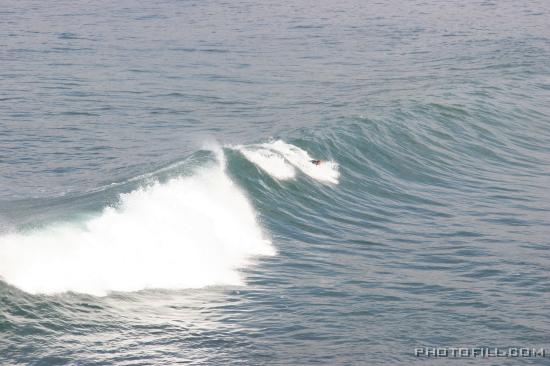
[[0, 276], [34, 294], [241, 285], [240, 268], [274, 253], [220, 161], [123, 194], [79, 225], [0, 237]]

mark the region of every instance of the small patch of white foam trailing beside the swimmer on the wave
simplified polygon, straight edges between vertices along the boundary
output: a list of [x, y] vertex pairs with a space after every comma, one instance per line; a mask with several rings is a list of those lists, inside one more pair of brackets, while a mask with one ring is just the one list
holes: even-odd
[[296, 178], [296, 169], [309, 177], [322, 182], [338, 184], [340, 172], [334, 161], [323, 161], [319, 165], [311, 163], [309, 153], [297, 146], [282, 140], [275, 140], [263, 144], [237, 145], [232, 147], [243, 154], [251, 163], [255, 164], [271, 177], [278, 180]]

